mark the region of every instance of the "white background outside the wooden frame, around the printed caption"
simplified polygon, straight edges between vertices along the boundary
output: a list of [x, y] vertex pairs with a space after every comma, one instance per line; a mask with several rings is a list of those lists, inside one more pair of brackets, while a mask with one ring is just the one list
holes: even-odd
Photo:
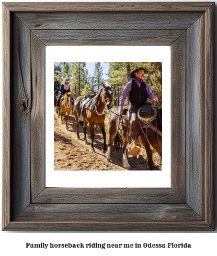
[[[4, 1], [9, 2], [9, 1]], [[13, 1], [18, 2], [18, 1]], [[27, 2], [27, 1], [23, 1]], [[30, 1], [29, 1], [30, 2]], [[38, 1], [44, 2], [44, 1]], [[47, 2], [57, 2], [55, 0], [47, 1]], [[59, 1], [61, 2], [61, 1]], [[68, 1], [64, 1], [68, 2]], [[73, 1], [71, 1], [73, 2]], [[90, 2], [86, 0], [86, 2]], [[97, 1], [95, 1], [97, 2]], [[112, 2], [112, 1], [111, 1]], [[115, 2], [115, 1], [114, 1]], [[119, 1], [119, 2], [132, 2], [132, 1]], [[139, 1], [137, 1], [139, 2]], [[146, 1], [148, 2], [148, 1]], [[149, 1], [150, 2], [150, 1]], [[152, 2], [163, 2], [163, 1], [152, 1]], [[179, 1], [168, 1], [168, 2], [179, 2]], [[187, 1], [185, 1], [187, 2]], [[191, 2], [202, 2], [202, 1], [193, 1]], [[215, 4], [217, 1], [215, 0]], [[1, 12], [2, 15], [2, 12]], [[215, 16], [216, 16], [216, 8], [215, 8]], [[2, 18], [0, 17], [0, 20]], [[2, 26], [1, 28], [2, 29]], [[216, 34], [217, 34], [217, 26], [215, 21], [215, 48], [216, 48]], [[1, 51], [0, 51], [1, 52]], [[216, 67], [216, 53], [215, 53], [215, 67]], [[2, 77], [2, 70], [1, 70]], [[216, 75], [215, 75], [216, 81]], [[2, 87], [5, 86], [6, 81], [2, 81]], [[215, 83], [216, 84], [216, 83]], [[215, 90], [215, 98], [216, 98], [216, 90]], [[215, 105], [216, 109], [216, 105]], [[2, 115], [0, 115], [2, 118]], [[2, 124], [2, 122], [0, 122]], [[215, 113], [215, 127], [216, 127], [216, 113]], [[2, 131], [2, 129], [0, 129]], [[216, 145], [216, 142], [215, 142]], [[1, 147], [2, 150], [2, 147]], [[4, 151], [3, 151], [4, 152]], [[215, 151], [216, 152], [216, 151]], [[2, 152], [0, 152], [0, 159], [2, 160]], [[214, 158], [216, 158], [216, 153]], [[215, 166], [216, 167], [216, 164]], [[214, 168], [216, 172], [216, 168]], [[1, 176], [0, 176], [1, 177]], [[2, 177], [1, 177], [2, 178]], [[216, 176], [215, 176], [215, 185], [217, 184]], [[0, 186], [2, 185], [2, 180], [0, 180]], [[1, 198], [2, 191], [0, 190]], [[215, 188], [216, 195], [216, 188]], [[215, 198], [216, 203], [216, 198]], [[216, 212], [215, 207], [215, 212]], [[1, 212], [0, 212], [1, 215]], [[216, 213], [215, 213], [215, 219]], [[216, 241], [217, 234], [214, 232], [12, 232], [12, 231], [0, 231], [0, 253], [2, 255], [50, 255], [53, 254], [63, 254], [64, 255], [86, 255], [86, 254], [94, 254], [94, 255], [111, 255], [111, 253], [118, 254], [136, 254], [136, 255], [205, 255], [211, 254], [216, 255]], [[30, 243], [141, 243], [144, 242], [152, 242], [152, 243], [167, 243], [167, 242], [187, 242], [191, 243], [191, 249], [26, 249], [26, 242]], [[4, 254], [3, 254], [4, 253]], [[49, 253], [49, 254], [48, 254]]]

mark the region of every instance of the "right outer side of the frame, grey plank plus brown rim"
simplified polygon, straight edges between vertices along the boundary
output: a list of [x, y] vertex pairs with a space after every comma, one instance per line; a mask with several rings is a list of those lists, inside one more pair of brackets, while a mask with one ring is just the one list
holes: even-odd
[[207, 18], [211, 13], [212, 8], [187, 31], [187, 203], [213, 226], [213, 20]]

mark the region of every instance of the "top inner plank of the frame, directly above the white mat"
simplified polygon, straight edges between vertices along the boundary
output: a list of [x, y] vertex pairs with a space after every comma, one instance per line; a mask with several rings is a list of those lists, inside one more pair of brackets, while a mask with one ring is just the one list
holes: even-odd
[[32, 30], [46, 45], [170, 45], [184, 31], [182, 29]]

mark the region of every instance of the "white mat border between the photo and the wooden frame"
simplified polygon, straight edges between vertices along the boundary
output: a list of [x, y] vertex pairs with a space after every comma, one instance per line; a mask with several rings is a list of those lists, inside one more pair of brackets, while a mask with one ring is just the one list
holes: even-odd
[[[162, 170], [53, 170], [53, 62], [60, 61], [141, 61], [139, 55], [129, 56], [133, 46], [46, 46], [46, 187], [170, 187], [170, 113], [163, 111], [163, 169]], [[145, 61], [162, 62], [163, 109], [170, 109], [170, 46], [136, 46], [138, 52], [145, 52]], [[55, 52], [55, 54], [53, 54]], [[82, 55], [81, 55], [82, 52]], [[163, 121], [164, 122], [164, 121]], [[65, 129], [65, 126], [63, 127]], [[89, 127], [87, 127], [89, 129]], [[108, 135], [107, 135], [108, 136]], [[76, 148], [72, 149], [76, 150]], [[89, 154], [89, 152], [87, 152]], [[90, 153], [92, 154], [92, 153]], [[93, 155], [94, 156], [94, 155]], [[85, 157], [83, 155], [81, 158]], [[82, 161], [82, 160], [81, 160]], [[104, 163], [102, 162], [101, 165]]]

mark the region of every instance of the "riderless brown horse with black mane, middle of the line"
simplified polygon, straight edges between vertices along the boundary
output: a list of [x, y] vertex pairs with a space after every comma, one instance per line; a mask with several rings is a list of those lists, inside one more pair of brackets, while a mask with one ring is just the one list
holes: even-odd
[[[92, 103], [90, 104], [88, 109], [84, 110], [85, 114], [85, 119], [84, 121], [78, 121], [79, 116], [81, 115], [81, 112], [78, 108], [74, 109], [74, 114], [75, 114], [75, 119], [76, 119], [76, 124], [77, 124], [77, 138], [79, 138], [79, 132], [78, 132], [78, 127], [79, 123], [83, 126], [84, 129], [84, 143], [87, 144], [87, 139], [86, 139], [86, 127], [87, 124], [89, 123], [89, 129], [90, 129], [90, 134], [91, 134], [91, 150], [92, 152], [95, 152], [94, 150], [94, 125], [98, 124], [99, 129], [102, 132], [103, 136], [103, 148], [102, 152], [105, 154], [106, 153], [106, 132], [105, 132], [105, 118], [106, 118], [106, 113], [105, 113], [105, 106], [107, 106], [108, 109], [112, 108], [112, 86], [105, 86], [105, 84], [102, 83], [102, 88], [99, 90], [98, 94], [96, 97], [93, 99]], [[76, 103], [81, 100], [81, 98], [84, 98], [83, 96], [78, 97], [75, 100], [75, 105]]]

